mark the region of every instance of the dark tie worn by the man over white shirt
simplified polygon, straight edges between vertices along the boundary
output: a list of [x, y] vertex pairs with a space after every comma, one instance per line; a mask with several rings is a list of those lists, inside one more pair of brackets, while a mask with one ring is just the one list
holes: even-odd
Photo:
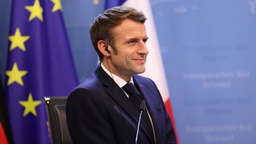
[[[129, 95], [129, 100], [133, 104], [135, 109], [139, 110], [142, 97], [139, 95], [139, 92], [137, 92], [135, 85], [129, 82], [126, 85], [124, 85], [124, 87], [122, 88]], [[142, 121], [144, 121], [144, 123], [146, 124], [146, 131], [151, 139], [151, 142], [155, 143], [155, 140], [153, 138], [153, 129], [152, 129], [151, 121], [149, 119], [149, 116], [146, 110], [142, 113]]]

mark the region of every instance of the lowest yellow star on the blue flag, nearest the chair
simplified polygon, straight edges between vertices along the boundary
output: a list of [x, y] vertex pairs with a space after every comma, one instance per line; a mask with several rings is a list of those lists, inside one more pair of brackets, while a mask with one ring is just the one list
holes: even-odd
[[34, 101], [32, 94], [28, 94], [28, 100], [27, 101], [19, 101], [19, 104], [23, 105], [25, 107], [23, 117], [27, 116], [28, 113], [34, 114], [34, 116], [37, 116], [36, 113], [36, 107], [37, 105], [41, 104], [41, 101]]

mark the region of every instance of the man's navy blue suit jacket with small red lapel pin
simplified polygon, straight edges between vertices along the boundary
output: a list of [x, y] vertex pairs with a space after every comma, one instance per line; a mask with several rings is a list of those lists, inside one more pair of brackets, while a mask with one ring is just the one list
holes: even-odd
[[[133, 75], [133, 81], [146, 101], [156, 143], [176, 143], [171, 120], [155, 83], [139, 75]], [[139, 111], [99, 65], [69, 95], [66, 120], [74, 143], [135, 143]], [[143, 121], [137, 143], [152, 143]]]

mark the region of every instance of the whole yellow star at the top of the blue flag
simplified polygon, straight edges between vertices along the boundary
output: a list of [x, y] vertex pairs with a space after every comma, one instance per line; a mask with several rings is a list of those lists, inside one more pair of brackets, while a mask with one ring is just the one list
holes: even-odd
[[25, 6], [25, 9], [30, 11], [28, 21], [31, 21], [36, 17], [39, 18], [40, 21], [43, 21], [43, 8], [41, 7], [39, 0], [36, 0], [32, 6]]

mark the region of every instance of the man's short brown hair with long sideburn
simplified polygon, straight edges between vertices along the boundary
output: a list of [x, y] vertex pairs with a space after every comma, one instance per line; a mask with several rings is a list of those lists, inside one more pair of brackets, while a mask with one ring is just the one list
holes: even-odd
[[103, 60], [103, 54], [98, 49], [98, 41], [105, 40], [108, 44], [110, 44], [111, 47], [113, 47], [115, 51], [114, 37], [111, 34], [111, 30], [126, 19], [142, 24], [144, 24], [146, 21], [146, 17], [143, 12], [137, 11], [135, 8], [114, 7], [105, 10], [92, 22], [89, 34], [92, 45], [100, 57], [100, 61]]

